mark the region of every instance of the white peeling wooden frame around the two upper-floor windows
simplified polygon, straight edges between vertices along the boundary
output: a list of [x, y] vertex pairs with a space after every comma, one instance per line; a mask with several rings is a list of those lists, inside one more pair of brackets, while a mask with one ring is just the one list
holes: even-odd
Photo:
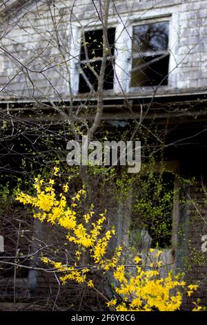
[[[149, 24], [149, 22], [169, 21], [168, 34], [168, 50], [170, 52], [168, 64], [168, 85], [161, 85], [157, 91], [169, 91], [177, 87], [177, 24], [179, 13], [177, 7], [161, 8], [160, 10], [152, 10], [152, 12], [145, 12], [144, 14], [132, 14], [132, 17], [123, 15], [121, 21], [117, 22], [113, 17], [109, 18], [108, 28], [115, 28], [115, 75], [113, 82], [113, 89], [105, 90], [104, 93], [108, 95], [121, 95], [127, 93], [129, 95], [139, 94], [148, 95], [155, 91], [157, 86], [137, 86], [130, 87], [131, 68], [132, 68], [132, 28], [139, 24]], [[72, 96], [76, 98], [84, 97], [84, 94], [79, 93], [79, 72], [77, 63], [79, 62], [79, 54], [81, 50], [80, 39], [82, 32], [88, 30], [99, 30], [101, 24], [95, 24], [94, 20], [84, 19], [83, 26], [74, 24], [72, 26], [72, 37], [70, 37], [70, 84]], [[69, 91], [69, 89], [68, 89]], [[92, 94], [92, 98], [95, 94]]]

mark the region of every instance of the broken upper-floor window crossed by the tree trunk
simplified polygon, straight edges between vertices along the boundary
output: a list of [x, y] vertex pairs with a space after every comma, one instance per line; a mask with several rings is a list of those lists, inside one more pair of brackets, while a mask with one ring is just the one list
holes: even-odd
[[[112, 59], [115, 54], [115, 28], [108, 28], [108, 58], [104, 73], [103, 89], [113, 89], [114, 69]], [[110, 56], [111, 54], [111, 56]], [[97, 91], [97, 75], [101, 71], [103, 59], [103, 30], [90, 30], [84, 32], [81, 40], [81, 53], [79, 64], [79, 93]]]

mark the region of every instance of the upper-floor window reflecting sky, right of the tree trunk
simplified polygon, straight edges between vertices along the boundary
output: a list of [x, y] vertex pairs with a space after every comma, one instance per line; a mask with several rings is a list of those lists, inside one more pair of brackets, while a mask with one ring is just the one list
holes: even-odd
[[131, 87], [168, 84], [168, 21], [134, 26]]

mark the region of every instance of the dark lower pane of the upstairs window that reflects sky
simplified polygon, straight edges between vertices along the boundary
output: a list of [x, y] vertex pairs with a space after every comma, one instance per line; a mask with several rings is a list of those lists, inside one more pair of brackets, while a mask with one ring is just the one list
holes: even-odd
[[132, 60], [131, 87], [168, 84], [169, 55], [152, 55]]

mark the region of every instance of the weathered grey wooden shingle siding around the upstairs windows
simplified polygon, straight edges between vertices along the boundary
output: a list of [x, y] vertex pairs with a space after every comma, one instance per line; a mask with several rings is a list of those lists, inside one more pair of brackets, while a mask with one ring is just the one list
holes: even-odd
[[[96, 2], [96, 1], [95, 1]], [[98, 1], [97, 1], [98, 2]], [[116, 1], [111, 6], [109, 22], [117, 28], [117, 75], [121, 86], [128, 89], [130, 73], [130, 38], [124, 24], [145, 18], [171, 15], [170, 21], [170, 77], [165, 92], [181, 89], [204, 89], [207, 77], [207, 1]], [[97, 3], [98, 5], [98, 3]], [[119, 12], [119, 15], [117, 14]], [[2, 12], [0, 11], [0, 14]], [[51, 16], [52, 14], [52, 16]], [[54, 15], [55, 14], [55, 15]], [[2, 13], [5, 15], [6, 12]], [[14, 16], [14, 14], [13, 14]], [[10, 17], [1, 26], [0, 99], [32, 96], [49, 100], [66, 100], [70, 95], [69, 82], [73, 93], [77, 91], [78, 71], [74, 55], [79, 55], [81, 28], [99, 25], [97, 12], [92, 1], [56, 1], [55, 6], [47, 1], [28, 1], [17, 11], [17, 17]], [[121, 19], [120, 19], [121, 17]], [[54, 23], [57, 28], [54, 28]], [[127, 27], [128, 30], [130, 26]], [[57, 41], [57, 33], [59, 42]], [[128, 39], [127, 39], [128, 38]], [[120, 50], [119, 46], [126, 46]], [[68, 66], [63, 62], [68, 60]], [[121, 65], [121, 68], [120, 68]], [[71, 75], [67, 69], [70, 69]], [[124, 72], [125, 71], [125, 72]], [[150, 89], [136, 89], [142, 95]], [[160, 89], [161, 91], [161, 89]], [[115, 84], [115, 92], [120, 93]]]

